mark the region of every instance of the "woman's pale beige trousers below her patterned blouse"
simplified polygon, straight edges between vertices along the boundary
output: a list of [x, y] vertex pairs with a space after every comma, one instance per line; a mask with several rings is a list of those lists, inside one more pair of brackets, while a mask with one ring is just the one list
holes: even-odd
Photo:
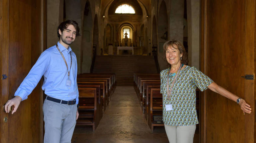
[[193, 143], [195, 125], [170, 126], [165, 125], [165, 131], [170, 143]]

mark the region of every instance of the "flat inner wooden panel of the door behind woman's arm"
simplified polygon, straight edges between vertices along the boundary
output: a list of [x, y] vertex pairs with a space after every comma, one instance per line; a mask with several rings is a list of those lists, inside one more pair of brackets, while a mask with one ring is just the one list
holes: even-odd
[[[206, 13], [207, 75], [244, 98], [245, 1], [207, 1]], [[245, 120], [235, 102], [208, 90], [206, 119], [207, 142], [244, 142]]]

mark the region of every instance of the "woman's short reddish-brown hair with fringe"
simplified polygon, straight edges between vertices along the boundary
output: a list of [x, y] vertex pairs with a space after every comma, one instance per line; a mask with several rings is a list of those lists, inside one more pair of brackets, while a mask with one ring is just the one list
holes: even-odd
[[167, 62], [166, 54], [165, 54], [167, 48], [170, 47], [170, 46], [175, 48], [175, 49], [177, 48], [180, 53], [183, 53], [181, 63], [184, 64], [184, 65], [188, 65], [189, 61], [188, 61], [188, 56], [187, 56], [186, 50], [185, 50], [183, 44], [181, 43], [181, 41], [179, 41], [179, 40], [170, 40], [170, 41], [167, 41], [167, 42], [164, 43], [164, 46], [163, 46], [163, 49], [164, 49], [163, 59], [166, 61], [167, 65], [171, 66]]

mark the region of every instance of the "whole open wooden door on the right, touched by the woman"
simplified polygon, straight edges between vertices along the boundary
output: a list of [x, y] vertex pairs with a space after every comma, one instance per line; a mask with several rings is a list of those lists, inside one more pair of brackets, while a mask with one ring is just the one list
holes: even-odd
[[201, 96], [201, 143], [255, 142], [255, 0], [201, 1], [201, 71], [246, 100], [252, 113], [209, 89]]

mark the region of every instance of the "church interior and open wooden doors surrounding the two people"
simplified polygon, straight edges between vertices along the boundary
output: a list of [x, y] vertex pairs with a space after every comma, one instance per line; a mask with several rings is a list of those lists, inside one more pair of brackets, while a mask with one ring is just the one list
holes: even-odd
[[[163, 45], [173, 39], [188, 66], [252, 107], [244, 115], [235, 102], [196, 90], [193, 142], [255, 143], [255, 82], [241, 77], [255, 73], [255, 7], [254, 0], [0, 0], [0, 103], [71, 19], [80, 27], [70, 45], [80, 106], [72, 143], [168, 143], [159, 74], [168, 68]], [[0, 115], [0, 143], [43, 142], [42, 84], [17, 113]]]

